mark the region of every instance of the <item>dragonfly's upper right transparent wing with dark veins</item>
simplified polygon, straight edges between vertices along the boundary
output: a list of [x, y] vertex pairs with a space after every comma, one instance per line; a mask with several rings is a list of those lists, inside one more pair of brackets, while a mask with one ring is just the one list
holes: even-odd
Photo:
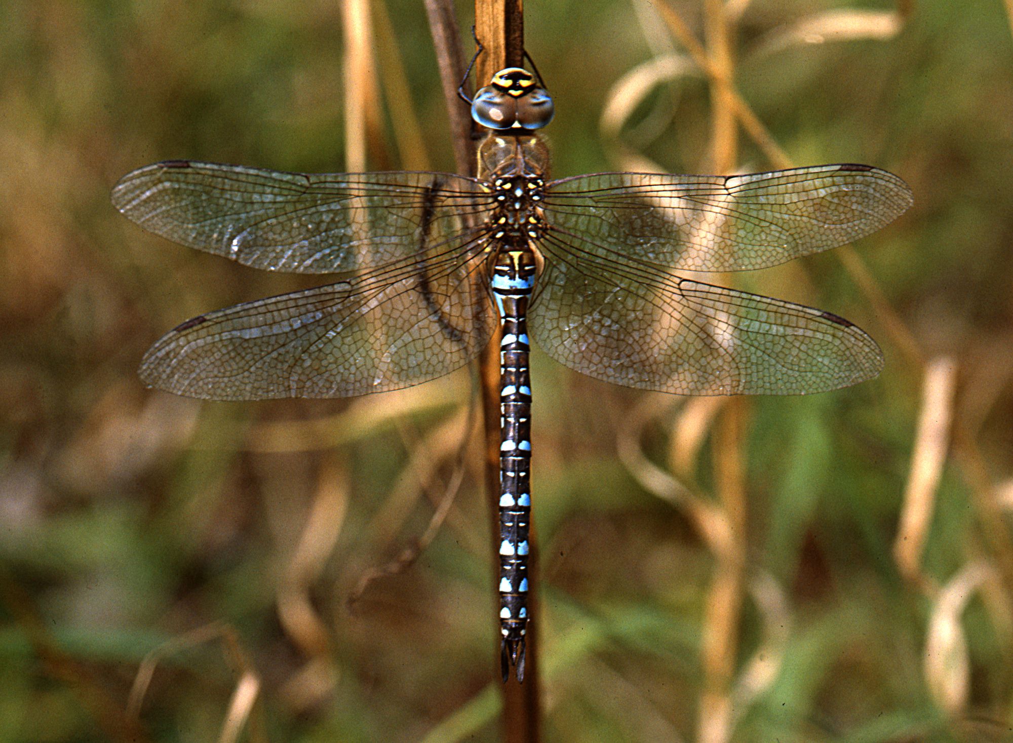
[[691, 271], [766, 268], [844, 245], [892, 222], [911, 189], [868, 165], [772, 173], [598, 173], [546, 187], [550, 227], [605, 260]]

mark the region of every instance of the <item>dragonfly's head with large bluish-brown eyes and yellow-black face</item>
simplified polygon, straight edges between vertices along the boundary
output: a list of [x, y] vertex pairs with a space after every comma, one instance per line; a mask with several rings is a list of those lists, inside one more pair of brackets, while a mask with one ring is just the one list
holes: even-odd
[[541, 129], [554, 113], [552, 98], [520, 67], [497, 72], [471, 101], [471, 117], [499, 131]]

